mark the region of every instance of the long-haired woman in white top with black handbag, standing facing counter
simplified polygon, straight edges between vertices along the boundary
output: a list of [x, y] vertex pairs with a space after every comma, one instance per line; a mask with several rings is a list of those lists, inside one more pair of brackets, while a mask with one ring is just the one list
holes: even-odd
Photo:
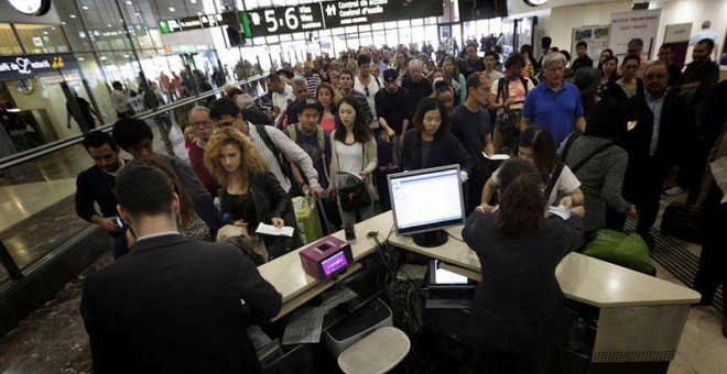
[[[351, 211], [344, 211], [340, 197], [338, 197], [338, 210], [344, 224], [356, 223], [373, 217], [373, 182], [371, 173], [378, 164], [376, 152], [376, 140], [364, 111], [355, 98], [344, 97], [338, 105], [338, 119], [336, 130], [330, 134], [332, 160], [328, 180], [332, 182], [333, 190], [349, 187], [351, 179], [364, 180], [366, 190], [371, 198], [371, 204]], [[344, 174], [339, 174], [344, 173]]]

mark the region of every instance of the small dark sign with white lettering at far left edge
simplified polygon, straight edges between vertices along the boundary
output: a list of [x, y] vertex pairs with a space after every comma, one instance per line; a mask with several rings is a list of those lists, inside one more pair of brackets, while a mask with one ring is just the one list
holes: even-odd
[[28, 79], [61, 68], [76, 68], [73, 53], [0, 56], [0, 80]]

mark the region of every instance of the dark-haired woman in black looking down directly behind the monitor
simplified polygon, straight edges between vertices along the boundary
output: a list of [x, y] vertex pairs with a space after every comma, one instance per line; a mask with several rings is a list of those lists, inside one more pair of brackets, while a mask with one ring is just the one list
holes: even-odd
[[471, 174], [473, 158], [457, 138], [449, 133], [449, 116], [436, 98], [424, 98], [414, 113], [414, 129], [406, 131], [402, 170], [459, 164]]

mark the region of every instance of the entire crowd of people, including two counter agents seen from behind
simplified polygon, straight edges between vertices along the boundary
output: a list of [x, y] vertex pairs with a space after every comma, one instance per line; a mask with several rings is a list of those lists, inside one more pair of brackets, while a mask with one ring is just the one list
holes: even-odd
[[[176, 371], [172, 354], [195, 358], [184, 371], [259, 370], [242, 328], [274, 316], [280, 295], [250, 263], [302, 245], [291, 196], [326, 200], [338, 230], [386, 209], [377, 200], [388, 173], [451, 164], [460, 166], [466, 191], [464, 239], [488, 270], [469, 329], [476, 365], [533, 372], [566, 329], [555, 265], [588, 234], [622, 231], [627, 217], [638, 219], [637, 233], [653, 248], [650, 229], [673, 167], [677, 188], [713, 222], [725, 221], [714, 177], [702, 184], [707, 160], [725, 154], [726, 85], [709, 59], [714, 42], [698, 41], [684, 72], [669, 44], [650, 62], [634, 38], [620, 62], [607, 50], [597, 67], [585, 43], [573, 62], [550, 44], [542, 40], [538, 59], [523, 45], [503, 65], [497, 38], [480, 51], [467, 44], [462, 57], [362, 47], [283, 64], [265, 77], [269, 108], [226, 86], [224, 98], [188, 110], [180, 123], [191, 165], [155, 153], [151, 129], [131, 116], [120, 116], [111, 134], [87, 134], [96, 165], [78, 176], [76, 206], [109, 232], [118, 260], [87, 279], [82, 304], [97, 372]], [[490, 160], [500, 153], [511, 156], [501, 166]], [[551, 206], [572, 218], [544, 218]], [[294, 234], [256, 235], [261, 223]], [[194, 245], [229, 227], [247, 239], [235, 242], [241, 251]], [[695, 287], [708, 304], [725, 280], [727, 245], [714, 226], [705, 235]], [[195, 282], [176, 282], [177, 272]]]

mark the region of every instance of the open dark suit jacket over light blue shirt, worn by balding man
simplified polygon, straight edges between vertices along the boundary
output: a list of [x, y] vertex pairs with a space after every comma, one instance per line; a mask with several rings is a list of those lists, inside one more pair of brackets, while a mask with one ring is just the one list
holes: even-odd
[[[637, 94], [626, 101], [629, 121], [636, 121], [636, 127], [623, 135], [622, 147], [629, 153], [627, 175], [636, 175], [648, 168], [649, 148], [654, 129], [654, 116], [647, 105], [644, 94]], [[696, 136], [692, 118], [688, 114], [684, 99], [672, 92], [664, 97], [664, 103], [659, 123], [659, 143], [654, 161], [661, 177], [665, 177], [669, 168], [677, 161], [681, 151], [688, 150]], [[637, 178], [638, 179], [638, 178]]]

